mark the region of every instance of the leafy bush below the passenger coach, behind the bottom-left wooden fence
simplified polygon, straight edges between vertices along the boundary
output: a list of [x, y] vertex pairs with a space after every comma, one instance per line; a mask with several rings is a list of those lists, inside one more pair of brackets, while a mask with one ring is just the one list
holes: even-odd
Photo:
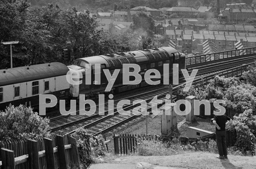
[[32, 139], [50, 137], [48, 118], [43, 118], [33, 112], [31, 106], [9, 105], [4, 112], [0, 112], [0, 140]]

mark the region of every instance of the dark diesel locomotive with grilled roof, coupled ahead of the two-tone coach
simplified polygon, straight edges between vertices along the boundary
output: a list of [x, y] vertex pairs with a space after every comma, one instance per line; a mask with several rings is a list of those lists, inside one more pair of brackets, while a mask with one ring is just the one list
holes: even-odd
[[[85, 71], [86, 64], [91, 64], [91, 84], [85, 84]], [[140, 76], [142, 76], [142, 81], [138, 85], [123, 85], [123, 72], [129, 71], [133, 72], [134, 69], [129, 70], [123, 69], [123, 64], [137, 64], [140, 66]], [[108, 80], [105, 77], [103, 69], [108, 69], [113, 74], [115, 69], [120, 69], [120, 72], [116, 78], [112, 90], [117, 93], [130, 90], [134, 88], [139, 88], [141, 86], [148, 85], [144, 80], [144, 74], [148, 69], [156, 69], [161, 74], [161, 80], [163, 81], [163, 64], [169, 64], [169, 72], [172, 75], [172, 64], [179, 64], [179, 71], [185, 68], [185, 55], [179, 53], [176, 49], [172, 47], [154, 48], [154, 49], [144, 49], [131, 52], [122, 52], [116, 54], [107, 54], [100, 56], [91, 56], [86, 58], [76, 59], [69, 69], [79, 69], [83, 73], [82, 84], [79, 85], [79, 90], [76, 90], [76, 94], [73, 96], [79, 96], [79, 94], [85, 94], [87, 98], [94, 96], [95, 94], [104, 93], [105, 88], [108, 84]], [[94, 84], [94, 69], [95, 64], [101, 65], [101, 83]], [[79, 68], [80, 67], [80, 68]], [[133, 76], [130, 76], [130, 80], [134, 80]], [[154, 79], [153, 79], [154, 80]], [[158, 79], [159, 80], [159, 79]], [[76, 86], [77, 88], [78, 86]], [[72, 89], [71, 89], [72, 90]], [[79, 91], [79, 92], [78, 92]]]

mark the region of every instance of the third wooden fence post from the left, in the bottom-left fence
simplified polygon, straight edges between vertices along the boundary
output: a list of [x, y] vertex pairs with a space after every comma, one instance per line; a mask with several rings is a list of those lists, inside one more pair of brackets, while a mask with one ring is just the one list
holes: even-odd
[[45, 159], [46, 159], [47, 169], [55, 169], [52, 139], [44, 137], [44, 146], [45, 146]]

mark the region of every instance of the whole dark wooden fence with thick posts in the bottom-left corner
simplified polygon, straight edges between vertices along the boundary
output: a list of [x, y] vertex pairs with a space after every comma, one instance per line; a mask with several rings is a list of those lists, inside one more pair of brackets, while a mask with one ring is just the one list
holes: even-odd
[[[91, 150], [89, 137], [83, 137], [87, 138], [87, 150]], [[88, 166], [91, 160], [85, 157], [82, 147], [77, 145], [79, 138], [79, 135], [71, 134], [56, 135], [52, 139], [2, 141], [0, 169], [66, 169], [67, 166], [73, 167], [80, 162]]]

